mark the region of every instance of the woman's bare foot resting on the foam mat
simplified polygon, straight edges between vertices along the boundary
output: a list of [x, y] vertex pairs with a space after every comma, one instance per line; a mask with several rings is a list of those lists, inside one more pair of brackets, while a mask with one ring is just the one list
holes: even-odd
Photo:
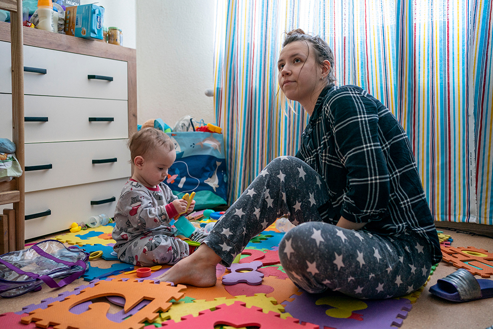
[[190, 256], [181, 259], [168, 271], [155, 277], [161, 282], [182, 283], [195, 287], [212, 287], [216, 284], [216, 265], [221, 261], [205, 243]]

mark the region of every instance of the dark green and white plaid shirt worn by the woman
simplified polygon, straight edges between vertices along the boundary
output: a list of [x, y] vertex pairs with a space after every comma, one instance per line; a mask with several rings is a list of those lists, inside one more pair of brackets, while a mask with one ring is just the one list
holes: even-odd
[[357, 86], [328, 86], [319, 95], [296, 156], [322, 176], [329, 201], [322, 219], [342, 216], [363, 230], [398, 236], [415, 231], [442, 259], [433, 217], [409, 139], [392, 113]]

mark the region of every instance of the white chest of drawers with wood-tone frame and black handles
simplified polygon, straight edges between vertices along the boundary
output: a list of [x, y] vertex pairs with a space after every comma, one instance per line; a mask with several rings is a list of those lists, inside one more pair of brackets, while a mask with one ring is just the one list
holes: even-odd
[[[4, 24], [0, 138], [12, 139]], [[131, 175], [126, 139], [137, 130], [136, 66], [135, 49], [23, 30], [25, 238], [31, 239], [92, 215], [113, 216]]]

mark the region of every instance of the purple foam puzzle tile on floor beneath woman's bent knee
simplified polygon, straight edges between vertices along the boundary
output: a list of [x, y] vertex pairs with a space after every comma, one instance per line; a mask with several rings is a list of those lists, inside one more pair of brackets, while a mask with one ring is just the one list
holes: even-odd
[[[393, 328], [400, 327], [402, 319], [407, 317], [408, 311], [411, 310], [411, 302], [406, 298], [390, 299], [366, 299], [355, 300], [364, 302], [366, 308], [355, 310], [351, 317], [334, 318], [328, 316], [325, 311], [331, 308], [327, 304], [317, 305], [316, 301], [325, 296], [334, 295], [333, 292], [327, 293], [308, 293], [303, 292], [301, 295], [292, 295], [293, 301], [283, 301], [281, 304], [286, 305], [284, 310], [297, 318], [300, 322], [308, 322], [336, 329], [365, 329], [365, 328]], [[337, 297], [337, 296], [336, 296]], [[348, 296], [341, 296], [348, 298]]]

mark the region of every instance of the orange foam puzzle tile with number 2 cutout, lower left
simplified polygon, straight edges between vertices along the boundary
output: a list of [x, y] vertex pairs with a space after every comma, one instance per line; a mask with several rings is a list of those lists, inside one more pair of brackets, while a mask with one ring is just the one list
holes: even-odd
[[[23, 324], [36, 322], [37, 327], [47, 328], [52, 325], [56, 328], [98, 328], [105, 329], [130, 329], [142, 328], [143, 321], [154, 321], [158, 312], [167, 311], [172, 303], [172, 298], [179, 300], [183, 297], [181, 292], [186, 287], [177, 285], [171, 287], [169, 283], [154, 284], [152, 281], [142, 283], [136, 281], [99, 281], [93, 288], [83, 290], [77, 295], [70, 295], [65, 300], [55, 302], [46, 309], [37, 309], [29, 316], [21, 319]], [[106, 318], [109, 309], [107, 303], [93, 303], [89, 305], [89, 310], [81, 314], [73, 314], [70, 309], [82, 302], [92, 300], [97, 297], [109, 295], [120, 295], [125, 298], [125, 313], [137, 306], [143, 299], [151, 300], [146, 306], [141, 308], [133, 316], [125, 319], [121, 323], [115, 323]]]

